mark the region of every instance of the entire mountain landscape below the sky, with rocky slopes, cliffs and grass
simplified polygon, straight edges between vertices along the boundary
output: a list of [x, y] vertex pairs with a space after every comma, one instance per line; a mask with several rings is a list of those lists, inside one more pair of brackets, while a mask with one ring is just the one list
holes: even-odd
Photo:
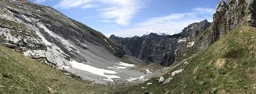
[[175, 35], [109, 38], [49, 6], [0, 0], [0, 93], [255, 93], [256, 1], [221, 0]]

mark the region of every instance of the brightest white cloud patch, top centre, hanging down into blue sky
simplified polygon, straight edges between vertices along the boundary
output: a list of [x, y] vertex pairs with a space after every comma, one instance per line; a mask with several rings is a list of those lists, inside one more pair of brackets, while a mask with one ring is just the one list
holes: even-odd
[[113, 23], [121, 26], [129, 26], [130, 20], [138, 13], [142, 4], [139, 0], [102, 0], [111, 4], [112, 7], [103, 8], [99, 11], [105, 19], [112, 19]]

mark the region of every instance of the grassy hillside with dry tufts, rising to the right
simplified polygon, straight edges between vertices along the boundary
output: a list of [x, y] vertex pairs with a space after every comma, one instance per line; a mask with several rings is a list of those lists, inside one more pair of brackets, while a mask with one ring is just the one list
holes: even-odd
[[[184, 68], [184, 72], [168, 84], [159, 84], [157, 77], [148, 81], [152, 85], [145, 82], [116, 92], [256, 93], [256, 28], [237, 27], [187, 61], [188, 65], [175, 67], [174, 70]], [[170, 74], [164, 75], [165, 79], [168, 77]]]

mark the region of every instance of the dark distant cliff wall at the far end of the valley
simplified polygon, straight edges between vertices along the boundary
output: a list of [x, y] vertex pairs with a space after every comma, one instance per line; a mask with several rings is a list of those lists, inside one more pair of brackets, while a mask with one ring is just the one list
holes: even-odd
[[111, 35], [110, 39], [122, 43], [128, 49], [129, 54], [136, 58], [147, 59], [151, 62], [169, 66], [175, 61], [177, 50], [183, 43], [189, 38], [198, 35], [210, 25], [210, 22], [204, 20], [190, 24], [182, 30], [182, 33], [177, 35], [170, 36], [150, 33], [150, 35], [134, 36], [132, 38], [121, 38]]

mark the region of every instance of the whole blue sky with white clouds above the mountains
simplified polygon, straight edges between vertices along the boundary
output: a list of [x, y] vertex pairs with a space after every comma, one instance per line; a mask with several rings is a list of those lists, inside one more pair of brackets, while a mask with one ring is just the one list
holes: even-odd
[[180, 33], [193, 22], [212, 21], [219, 0], [30, 0], [52, 6], [106, 36]]

